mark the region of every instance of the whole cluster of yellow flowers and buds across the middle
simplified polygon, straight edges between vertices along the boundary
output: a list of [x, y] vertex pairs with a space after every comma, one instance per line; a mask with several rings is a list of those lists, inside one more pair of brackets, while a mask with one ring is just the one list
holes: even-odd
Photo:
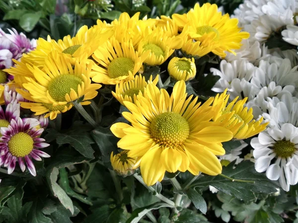
[[[222, 15], [216, 4], [197, 3], [172, 19], [140, 20], [139, 14], [130, 18], [122, 13], [110, 24], [98, 20], [58, 42], [40, 38], [36, 50], [5, 70], [14, 75], [17, 92], [29, 100], [21, 107], [54, 119], [74, 103], [90, 104], [103, 84], [116, 85], [112, 94], [130, 111], [122, 115], [131, 124], [111, 126], [124, 150], [111, 155], [115, 170], [126, 174], [140, 167], [148, 185], [161, 181], [165, 171], [219, 174], [222, 166], [216, 156], [225, 153], [222, 142], [251, 137], [267, 124], [261, 124], [262, 118], [252, 120], [245, 100], [227, 104], [226, 92], [197, 103], [198, 97], [188, 97], [185, 81], [196, 74], [194, 58], [210, 52], [224, 57], [224, 52], [239, 49], [249, 34], [240, 32], [237, 19]], [[170, 96], [156, 87], [158, 75], [146, 80], [142, 73], [177, 49], [185, 57], [169, 61], [168, 73], [177, 81]]]

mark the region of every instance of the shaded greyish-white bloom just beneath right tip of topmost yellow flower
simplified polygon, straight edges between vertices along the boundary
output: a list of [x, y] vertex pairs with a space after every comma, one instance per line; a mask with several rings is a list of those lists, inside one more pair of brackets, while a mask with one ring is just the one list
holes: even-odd
[[253, 44], [250, 44], [249, 40], [245, 39], [242, 40], [241, 44], [242, 46], [239, 50], [234, 50], [236, 55], [227, 52], [224, 59], [228, 62], [231, 62], [236, 59], [245, 59], [253, 63], [262, 56], [260, 43], [258, 41], [255, 41]]

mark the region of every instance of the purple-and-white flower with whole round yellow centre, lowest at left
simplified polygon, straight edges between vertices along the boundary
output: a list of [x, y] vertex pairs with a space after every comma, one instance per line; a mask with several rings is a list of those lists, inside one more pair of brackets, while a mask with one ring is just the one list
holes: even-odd
[[[36, 170], [31, 158], [41, 161], [41, 157], [48, 158], [50, 155], [40, 150], [48, 147], [43, 138], [39, 136], [44, 131], [43, 128], [32, 128], [30, 119], [23, 122], [21, 118], [11, 119], [7, 127], [1, 128], [0, 138], [0, 166], [7, 167], [7, 173], [10, 174], [18, 162], [21, 170], [24, 172], [26, 165], [33, 176], [36, 176]], [[24, 162], [25, 160], [25, 162]]]

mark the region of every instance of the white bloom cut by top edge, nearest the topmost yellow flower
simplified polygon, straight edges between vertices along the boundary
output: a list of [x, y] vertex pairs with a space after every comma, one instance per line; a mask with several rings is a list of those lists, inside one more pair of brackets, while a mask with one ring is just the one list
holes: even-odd
[[234, 10], [234, 17], [239, 19], [240, 26], [250, 24], [264, 14], [262, 6], [269, 0], [244, 0], [238, 8]]

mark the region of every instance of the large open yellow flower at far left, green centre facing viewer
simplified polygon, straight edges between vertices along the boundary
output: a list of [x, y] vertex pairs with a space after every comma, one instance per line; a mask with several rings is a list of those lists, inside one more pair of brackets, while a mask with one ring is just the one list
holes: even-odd
[[100, 84], [91, 84], [90, 71], [92, 63], [83, 60], [75, 61], [74, 68], [68, 56], [52, 52], [45, 60], [45, 66], [40, 69], [31, 67], [34, 78], [28, 78], [22, 86], [25, 90], [17, 89], [25, 99], [32, 102], [22, 102], [21, 107], [36, 112], [36, 115], [47, 113], [51, 119], [57, 114], [66, 112], [73, 107], [73, 102], [83, 97], [81, 105], [97, 95]]

